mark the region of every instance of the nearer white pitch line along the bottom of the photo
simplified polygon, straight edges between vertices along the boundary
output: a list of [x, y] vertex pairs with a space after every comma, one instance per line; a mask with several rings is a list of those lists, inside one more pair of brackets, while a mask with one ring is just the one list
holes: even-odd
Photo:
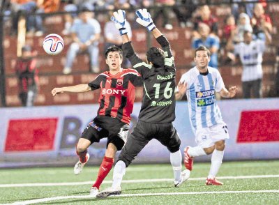
[[[147, 197], [147, 196], [165, 196], [165, 195], [210, 195], [210, 194], [239, 194], [239, 193], [278, 193], [279, 190], [245, 190], [245, 191], [220, 191], [220, 192], [172, 192], [172, 193], [146, 193], [146, 194], [127, 194], [127, 195], [116, 195], [110, 197]], [[43, 199], [33, 199], [22, 202], [14, 202], [13, 205], [27, 205], [27, 204], [36, 204], [41, 202], [50, 202], [54, 200], [61, 199], [95, 199], [90, 195], [86, 196], [61, 196], [61, 197], [52, 197], [52, 198], [43, 198]]]

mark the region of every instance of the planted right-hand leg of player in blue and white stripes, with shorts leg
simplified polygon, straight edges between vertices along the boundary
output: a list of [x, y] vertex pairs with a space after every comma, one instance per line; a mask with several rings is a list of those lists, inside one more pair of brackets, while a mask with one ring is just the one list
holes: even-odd
[[222, 182], [216, 179], [216, 175], [223, 162], [225, 139], [229, 139], [229, 133], [225, 123], [219, 123], [210, 129], [215, 149], [211, 155], [211, 167], [209, 170], [209, 176], [207, 176], [206, 179], [206, 185], [223, 185]]

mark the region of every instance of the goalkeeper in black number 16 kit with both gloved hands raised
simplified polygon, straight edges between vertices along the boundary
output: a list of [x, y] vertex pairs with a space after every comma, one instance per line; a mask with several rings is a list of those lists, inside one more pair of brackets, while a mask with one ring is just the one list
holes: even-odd
[[126, 14], [123, 10], [114, 12], [111, 18], [119, 29], [123, 41], [123, 53], [129, 59], [133, 68], [144, 79], [144, 96], [140, 110], [139, 121], [123, 147], [113, 173], [112, 187], [100, 192], [97, 197], [105, 198], [121, 194], [121, 181], [126, 167], [135, 159], [138, 153], [151, 139], [157, 139], [170, 152], [170, 162], [174, 171], [174, 186], [179, 187], [186, 181], [190, 172], [181, 172], [181, 151], [179, 135], [172, 125], [175, 119], [175, 71], [174, 57], [169, 42], [156, 28], [146, 9], [137, 10], [137, 23], [145, 26], [153, 34], [162, 49], [151, 47], [146, 52], [147, 63], [135, 54], [127, 35]]

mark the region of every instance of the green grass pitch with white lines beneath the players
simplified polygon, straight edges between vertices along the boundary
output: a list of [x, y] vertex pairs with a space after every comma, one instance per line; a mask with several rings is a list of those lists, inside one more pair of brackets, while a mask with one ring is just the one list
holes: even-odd
[[[279, 160], [223, 162], [221, 186], [207, 186], [210, 163], [195, 163], [190, 179], [174, 188], [169, 164], [130, 165], [122, 194], [89, 197], [98, 167], [0, 169], [0, 204], [279, 204]], [[112, 172], [101, 190], [111, 185]], [[38, 199], [38, 200], [37, 200]]]

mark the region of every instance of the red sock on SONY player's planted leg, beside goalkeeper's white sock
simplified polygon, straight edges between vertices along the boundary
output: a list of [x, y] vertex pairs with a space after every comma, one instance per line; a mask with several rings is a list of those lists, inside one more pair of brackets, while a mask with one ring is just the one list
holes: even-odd
[[106, 156], [104, 157], [102, 164], [100, 164], [98, 177], [92, 187], [96, 187], [98, 189], [100, 188], [101, 183], [103, 182], [107, 174], [109, 174], [110, 169], [112, 169], [113, 162], [113, 158], [107, 158]]

